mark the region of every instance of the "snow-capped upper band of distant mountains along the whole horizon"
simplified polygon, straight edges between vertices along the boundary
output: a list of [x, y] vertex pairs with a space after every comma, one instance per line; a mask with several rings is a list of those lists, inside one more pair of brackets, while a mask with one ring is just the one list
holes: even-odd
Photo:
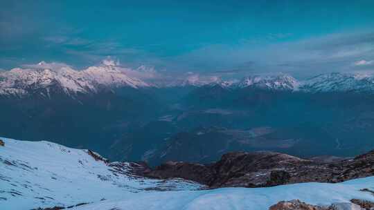
[[311, 79], [297, 80], [290, 75], [251, 76], [238, 82], [220, 79], [201, 81], [198, 77], [175, 79], [168, 83], [144, 82], [126, 75], [114, 64], [91, 66], [84, 70], [62, 67], [58, 70], [43, 68], [14, 68], [0, 73], [0, 95], [24, 97], [39, 93], [49, 97], [51, 91], [67, 95], [94, 94], [111, 88], [175, 88], [186, 86], [221, 86], [222, 88], [258, 88], [277, 91], [321, 92], [361, 92], [374, 93], [374, 77], [360, 74], [330, 73]]

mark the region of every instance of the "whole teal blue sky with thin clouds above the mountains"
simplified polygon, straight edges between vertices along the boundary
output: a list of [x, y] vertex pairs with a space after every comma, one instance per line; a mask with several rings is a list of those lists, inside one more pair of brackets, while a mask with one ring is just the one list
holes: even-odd
[[1, 1], [0, 68], [108, 56], [172, 73], [371, 71], [374, 1]]

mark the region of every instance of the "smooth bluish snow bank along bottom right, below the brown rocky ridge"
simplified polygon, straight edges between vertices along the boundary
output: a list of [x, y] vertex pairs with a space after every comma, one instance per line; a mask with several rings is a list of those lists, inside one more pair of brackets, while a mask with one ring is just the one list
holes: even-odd
[[[371, 193], [374, 177], [350, 180], [339, 184], [304, 183], [269, 188], [224, 188], [208, 191], [167, 191], [133, 193], [123, 200], [106, 200], [78, 207], [80, 210], [109, 209], [251, 209], [266, 210], [281, 200], [299, 199], [310, 204], [328, 205], [349, 202], [352, 198], [374, 201]], [[143, 202], [146, 201], [146, 202]]]

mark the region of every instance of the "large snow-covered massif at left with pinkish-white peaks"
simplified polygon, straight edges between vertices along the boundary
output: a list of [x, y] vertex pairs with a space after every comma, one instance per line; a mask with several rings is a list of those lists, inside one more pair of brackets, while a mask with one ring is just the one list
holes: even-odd
[[0, 95], [24, 95], [39, 93], [46, 97], [52, 91], [67, 95], [97, 93], [100, 88], [148, 87], [150, 84], [127, 76], [116, 65], [103, 63], [85, 70], [73, 70], [69, 66], [46, 68], [44, 61], [34, 68], [13, 68], [0, 73]]

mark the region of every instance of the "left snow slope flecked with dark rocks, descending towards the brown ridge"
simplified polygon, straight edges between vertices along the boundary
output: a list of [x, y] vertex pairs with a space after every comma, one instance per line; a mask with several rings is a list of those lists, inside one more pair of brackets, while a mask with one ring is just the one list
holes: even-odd
[[124, 173], [87, 150], [52, 142], [26, 142], [0, 137], [0, 209], [69, 206], [102, 199], [127, 198], [139, 191], [190, 190], [201, 187], [183, 180], [150, 180]]

